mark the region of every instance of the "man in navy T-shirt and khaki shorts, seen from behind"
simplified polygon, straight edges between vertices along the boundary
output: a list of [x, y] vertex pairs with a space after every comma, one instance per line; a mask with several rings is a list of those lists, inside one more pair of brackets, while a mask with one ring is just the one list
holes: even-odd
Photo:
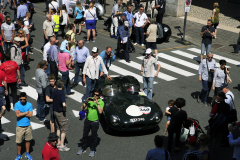
[[57, 88], [52, 92], [53, 113], [55, 117], [55, 126], [58, 135], [59, 151], [69, 151], [70, 148], [64, 145], [64, 140], [68, 132], [68, 121], [66, 118], [66, 97], [63, 92], [64, 80], [58, 80]]

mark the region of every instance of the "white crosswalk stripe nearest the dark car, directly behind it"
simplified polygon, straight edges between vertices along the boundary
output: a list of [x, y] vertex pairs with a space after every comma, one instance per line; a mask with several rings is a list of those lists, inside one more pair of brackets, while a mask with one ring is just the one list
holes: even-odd
[[[116, 66], [116, 65], [114, 65], [114, 64], [111, 64], [111, 71], [116, 72], [116, 73], [118, 73], [118, 74], [120, 74], [120, 75], [123, 75], [123, 76], [127, 76], [127, 75], [133, 76], [133, 77], [135, 77], [140, 83], [143, 83], [143, 78], [142, 78], [142, 76], [140, 76], [140, 75], [138, 75], [138, 74], [135, 74], [135, 73], [133, 73], [133, 72], [130, 72], [130, 71], [128, 71], [128, 70], [125, 70], [125, 69], [123, 69], [123, 68], [120, 68], [120, 67], [118, 67], [118, 66]], [[157, 82], [154, 81], [153, 84], [157, 84]]]

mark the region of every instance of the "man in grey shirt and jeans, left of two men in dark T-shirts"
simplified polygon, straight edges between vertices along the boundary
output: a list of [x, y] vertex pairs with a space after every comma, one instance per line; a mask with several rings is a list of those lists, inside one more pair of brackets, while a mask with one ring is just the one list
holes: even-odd
[[39, 68], [37, 68], [35, 72], [36, 79], [36, 90], [38, 93], [37, 99], [37, 115], [36, 117], [40, 120], [40, 122], [48, 121], [45, 119], [45, 89], [48, 85], [48, 77], [45, 70], [48, 67], [47, 61], [40, 61]]

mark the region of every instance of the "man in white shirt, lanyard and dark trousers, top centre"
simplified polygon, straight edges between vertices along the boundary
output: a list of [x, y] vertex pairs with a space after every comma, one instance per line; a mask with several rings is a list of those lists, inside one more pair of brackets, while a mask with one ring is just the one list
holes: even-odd
[[[132, 19], [133, 25], [135, 27], [136, 32], [136, 43], [134, 45], [140, 44], [139, 38], [141, 37], [141, 44], [144, 46], [144, 27], [148, 23], [148, 17], [145, 13], [143, 13], [143, 6], [140, 7], [139, 12], [135, 13]], [[136, 18], [136, 21], [134, 21]], [[140, 36], [140, 37], [139, 37]]]

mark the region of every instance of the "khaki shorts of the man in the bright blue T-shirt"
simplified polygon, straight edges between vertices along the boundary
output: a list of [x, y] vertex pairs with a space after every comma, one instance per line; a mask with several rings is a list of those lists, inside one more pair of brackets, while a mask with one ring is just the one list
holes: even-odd
[[16, 128], [16, 143], [22, 143], [23, 136], [25, 137], [25, 141], [32, 140], [32, 128], [31, 125], [27, 127], [19, 127]]

